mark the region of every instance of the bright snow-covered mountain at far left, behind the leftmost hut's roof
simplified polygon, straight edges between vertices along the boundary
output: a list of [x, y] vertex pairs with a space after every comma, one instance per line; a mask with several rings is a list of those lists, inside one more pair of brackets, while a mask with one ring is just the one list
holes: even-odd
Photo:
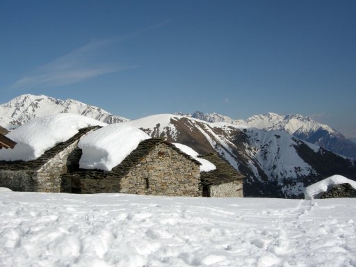
[[60, 100], [45, 95], [20, 95], [0, 105], [0, 126], [11, 129], [33, 118], [56, 113], [86, 115], [106, 123], [127, 121], [126, 118], [112, 115], [102, 108], [73, 99]]

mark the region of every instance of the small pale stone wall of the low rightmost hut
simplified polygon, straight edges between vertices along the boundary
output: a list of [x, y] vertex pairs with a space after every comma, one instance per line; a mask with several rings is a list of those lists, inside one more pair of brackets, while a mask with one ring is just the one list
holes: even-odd
[[243, 197], [243, 182], [239, 180], [208, 186], [208, 194], [210, 197]]

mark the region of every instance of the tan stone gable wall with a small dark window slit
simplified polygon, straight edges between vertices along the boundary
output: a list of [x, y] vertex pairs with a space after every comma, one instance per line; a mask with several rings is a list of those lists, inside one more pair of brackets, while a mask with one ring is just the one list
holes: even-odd
[[201, 196], [200, 166], [163, 143], [121, 180], [120, 192]]

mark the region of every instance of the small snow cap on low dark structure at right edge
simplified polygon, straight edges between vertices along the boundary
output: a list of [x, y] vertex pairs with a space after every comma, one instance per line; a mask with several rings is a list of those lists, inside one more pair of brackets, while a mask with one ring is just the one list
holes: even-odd
[[356, 190], [356, 181], [350, 180], [341, 175], [333, 175], [321, 181], [318, 181], [311, 186], [307, 186], [305, 188], [305, 199], [312, 200], [314, 197], [318, 197], [323, 192], [327, 192], [328, 189], [332, 188], [335, 184], [350, 184]]

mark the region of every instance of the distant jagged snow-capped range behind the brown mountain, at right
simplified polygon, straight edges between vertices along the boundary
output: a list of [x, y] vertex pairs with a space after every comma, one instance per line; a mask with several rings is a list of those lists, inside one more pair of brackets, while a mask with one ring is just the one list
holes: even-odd
[[253, 115], [248, 120], [234, 120], [217, 113], [204, 114], [196, 111], [193, 114], [176, 113], [189, 118], [197, 118], [206, 122], [228, 122], [230, 124], [247, 124], [266, 131], [285, 131], [309, 143], [320, 145], [331, 152], [356, 159], [356, 143], [343, 136], [331, 127], [316, 122], [302, 115], [278, 115], [266, 113]]

